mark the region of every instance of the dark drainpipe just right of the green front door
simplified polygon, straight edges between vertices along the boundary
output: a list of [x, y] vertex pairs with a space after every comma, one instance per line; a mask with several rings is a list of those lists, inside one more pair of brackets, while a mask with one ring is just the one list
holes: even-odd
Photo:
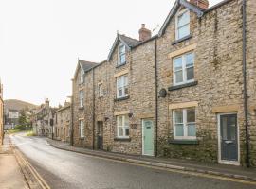
[[155, 37], [155, 157], [158, 154], [158, 75], [157, 75], [157, 38]]

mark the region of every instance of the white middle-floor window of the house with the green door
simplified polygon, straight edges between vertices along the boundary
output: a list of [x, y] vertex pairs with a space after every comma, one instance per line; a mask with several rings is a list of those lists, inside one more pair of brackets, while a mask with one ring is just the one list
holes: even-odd
[[117, 77], [117, 98], [128, 95], [128, 75]]

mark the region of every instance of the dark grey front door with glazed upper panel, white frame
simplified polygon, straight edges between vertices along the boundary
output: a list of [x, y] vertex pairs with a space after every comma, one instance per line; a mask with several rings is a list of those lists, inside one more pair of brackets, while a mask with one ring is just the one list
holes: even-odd
[[237, 115], [220, 115], [221, 160], [238, 161]]

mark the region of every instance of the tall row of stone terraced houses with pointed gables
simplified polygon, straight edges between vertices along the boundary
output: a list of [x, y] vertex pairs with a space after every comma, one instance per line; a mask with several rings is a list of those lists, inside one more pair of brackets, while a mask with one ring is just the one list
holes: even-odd
[[177, 0], [156, 36], [142, 25], [78, 61], [72, 144], [255, 166], [255, 41], [253, 0]]

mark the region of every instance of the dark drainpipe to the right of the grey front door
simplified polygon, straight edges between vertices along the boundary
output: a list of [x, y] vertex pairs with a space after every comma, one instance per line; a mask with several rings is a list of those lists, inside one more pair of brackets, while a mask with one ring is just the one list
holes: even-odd
[[244, 79], [244, 112], [245, 112], [245, 125], [246, 125], [246, 164], [247, 167], [250, 166], [249, 163], [249, 136], [248, 136], [248, 103], [247, 103], [247, 3], [243, 0], [243, 79]]

